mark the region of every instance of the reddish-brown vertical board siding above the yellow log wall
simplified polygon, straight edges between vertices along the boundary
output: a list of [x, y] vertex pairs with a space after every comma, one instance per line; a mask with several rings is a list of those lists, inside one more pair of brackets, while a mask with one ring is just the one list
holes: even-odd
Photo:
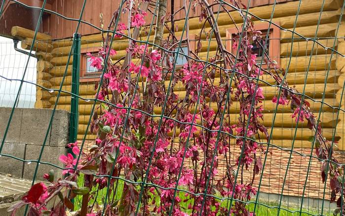
[[[286, 2], [286, 1], [292, 1], [292, 0], [277, 0], [277, 2]], [[171, 15], [171, 1], [168, 1], [167, 5], [167, 15]], [[215, 0], [208, 0], [209, 4], [215, 3]], [[100, 13], [103, 13], [104, 18], [104, 28], [107, 27], [107, 24], [109, 23], [113, 12], [118, 8], [120, 3], [120, 0], [88, 0], [82, 19], [86, 22], [89, 22], [97, 27], [101, 27], [100, 24]], [[189, 6], [189, 0], [186, 0], [187, 8]], [[194, 3], [192, 1], [192, 3]], [[244, 5], [248, 4], [248, 0], [242, 0], [242, 3]], [[260, 5], [266, 5], [266, 4], [273, 4], [274, 0], [251, 0], [250, 7], [260, 6]], [[81, 7], [83, 4], [83, 0], [54, 0], [52, 2], [52, 10], [56, 11], [64, 16], [70, 17], [70, 18], [79, 18]], [[174, 11], [177, 11], [178, 9], [183, 7], [183, 0], [174, 0]], [[218, 11], [218, 5], [213, 6], [213, 11]], [[231, 7], [225, 6], [228, 10], [232, 10]], [[151, 10], [154, 10], [154, 6], [150, 7]], [[223, 8], [221, 8], [220, 11], [224, 11]], [[199, 16], [201, 13], [201, 8], [196, 6], [193, 8], [191, 6], [191, 10], [189, 12], [189, 17], [196, 17]], [[181, 10], [176, 13], [174, 16], [175, 20], [184, 19], [185, 18], [185, 11]], [[155, 22], [156, 18], [154, 18]], [[148, 13], [148, 16], [146, 17], [146, 22], [151, 23], [152, 21], [152, 14]], [[50, 17], [51, 27], [50, 27], [50, 34], [53, 36], [53, 38], [65, 38], [65, 37], [71, 37], [73, 32], [76, 28], [76, 21], [68, 21], [64, 20], [61, 17], [58, 17], [56, 15], [51, 15]], [[122, 15], [121, 22], [124, 22], [127, 24], [127, 16]], [[182, 26], [179, 26], [179, 28], [182, 28]], [[81, 24], [79, 27], [79, 33], [82, 35], [89, 35], [89, 34], [95, 34], [99, 31], [87, 24]]]

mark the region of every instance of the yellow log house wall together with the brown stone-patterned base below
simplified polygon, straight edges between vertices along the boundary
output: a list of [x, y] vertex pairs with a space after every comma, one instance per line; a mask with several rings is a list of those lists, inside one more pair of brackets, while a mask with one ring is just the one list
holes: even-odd
[[[58, 3], [63, 2], [58, 1]], [[76, 2], [76, 1], [73, 1]], [[104, 2], [102, 0], [102, 2]], [[313, 38], [315, 36], [315, 31], [317, 29], [317, 22], [320, 14], [320, 8], [323, 0], [303, 0], [300, 7], [300, 12], [297, 19], [297, 25], [295, 32], [301, 34], [305, 37]], [[326, 0], [323, 6], [323, 12], [321, 15], [321, 22], [317, 32], [317, 41], [321, 44], [332, 47], [334, 42], [336, 44], [336, 49], [345, 54], [345, 27], [344, 22], [337, 32], [337, 25], [340, 19], [340, 8], [342, 5], [342, 0]], [[102, 3], [101, 3], [102, 4]], [[102, 4], [103, 5], [103, 4]], [[274, 11], [273, 22], [279, 23], [283, 29], [293, 29], [294, 22], [296, 19], [296, 13], [298, 9], [299, 1], [290, 1], [286, 3], [279, 3], [276, 5]], [[66, 6], [66, 4], [65, 4]], [[70, 6], [66, 6], [66, 9]], [[116, 6], [112, 5], [111, 8], [114, 9]], [[110, 8], [110, 7], [109, 7]], [[250, 12], [257, 15], [263, 19], [270, 19], [273, 6], [265, 5], [253, 7], [250, 9]], [[110, 9], [109, 9], [110, 10]], [[111, 10], [110, 10], [111, 11]], [[61, 11], [58, 11], [61, 12]], [[99, 11], [94, 10], [94, 14], [99, 14]], [[105, 13], [105, 11], [103, 11]], [[109, 13], [109, 12], [107, 12]], [[242, 18], [239, 16], [238, 12], [230, 12], [233, 16], [235, 22], [240, 24]], [[74, 16], [74, 15], [73, 15]], [[96, 16], [96, 15], [95, 15]], [[97, 15], [98, 16], [98, 15]], [[218, 18], [219, 30], [224, 39], [224, 44], [226, 44], [227, 30], [234, 28], [234, 24], [227, 17], [226, 14], [222, 13]], [[98, 22], [98, 19], [95, 19], [94, 22]], [[96, 21], [97, 20], [97, 21]], [[257, 25], [262, 24], [261, 21], [255, 21]], [[64, 24], [64, 21], [60, 20], [59, 24], [63, 25], [62, 29], [67, 28]], [[182, 26], [184, 20], [176, 21], [176, 25]], [[52, 26], [56, 26], [52, 20]], [[60, 28], [60, 27], [59, 27]], [[189, 21], [190, 35], [195, 36], [195, 38], [201, 37], [202, 39], [202, 51], [200, 57], [206, 60], [207, 54], [207, 44], [206, 36], [200, 34], [201, 24], [199, 23], [199, 18], [191, 18]], [[209, 29], [209, 27], [207, 27]], [[74, 29], [74, 27], [71, 27]], [[181, 36], [182, 28], [179, 28], [176, 36]], [[64, 35], [62, 32], [52, 32], [53, 37], [67, 37], [70, 36], [71, 30], [66, 30], [69, 35]], [[82, 27], [82, 50], [85, 52], [88, 50], [95, 50], [101, 46], [101, 35], [85, 35], [89, 33], [95, 33], [91, 29], [86, 29]], [[338, 33], [336, 35], [336, 33]], [[167, 32], [165, 32], [167, 34]], [[345, 58], [339, 57], [337, 54], [333, 54], [331, 58], [331, 50], [325, 49], [322, 46], [315, 44], [313, 51], [313, 41], [301, 39], [300, 36], [295, 35], [294, 41], [292, 43], [291, 38], [292, 34], [288, 31], [280, 30], [278, 38], [271, 38], [278, 40], [279, 50], [277, 58], [280, 61], [280, 66], [282, 68], [287, 68], [289, 64], [289, 69], [286, 79], [289, 84], [295, 85], [296, 89], [299, 92], [303, 92], [304, 83], [306, 81], [305, 94], [310, 96], [316, 101], [321, 101], [323, 97], [323, 89], [326, 85], [324, 104], [321, 106], [321, 103], [311, 102], [311, 109], [314, 111], [315, 115], [320, 116], [320, 121], [323, 126], [323, 133], [327, 139], [332, 139], [333, 133], [336, 134], [335, 140], [339, 141], [338, 146], [336, 147], [335, 156], [343, 159], [343, 151], [345, 149], [345, 142], [343, 139], [344, 130], [345, 130], [345, 116], [344, 111], [340, 112], [339, 120], [337, 121], [337, 109], [332, 107], [339, 107], [341, 102], [341, 93], [344, 87], [345, 80]], [[28, 37], [28, 36], [26, 36]], [[39, 38], [38, 38], [39, 39]], [[40, 38], [40, 39], [49, 39], [49, 38]], [[146, 40], [147, 36], [142, 35], [142, 40]], [[153, 35], [149, 37], [149, 40], [153, 39]], [[28, 38], [30, 41], [30, 38]], [[42, 83], [44, 86], [51, 87], [54, 89], [59, 89], [59, 86], [62, 81], [62, 76], [67, 67], [67, 77], [63, 83], [63, 90], [70, 92], [71, 91], [71, 65], [73, 59], [71, 58], [69, 65], [67, 64], [68, 54], [70, 52], [71, 39], [62, 39], [55, 40], [53, 42], [46, 40], [42, 41], [41, 49], [38, 48], [38, 56], [40, 60], [37, 63], [37, 82]], [[22, 43], [30, 44], [30, 43]], [[113, 57], [113, 60], [117, 60], [123, 57], [126, 54], [126, 46], [128, 41], [117, 39], [112, 48], [117, 51], [117, 56]], [[214, 40], [210, 43], [210, 56], [214, 55], [216, 52], [216, 42]], [[292, 46], [292, 47], [291, 47]], [[292, 51], [292, 52], [291, 52]], [[311, 53], [312, 51], [312, 53]], [[289, 56], [291, 55], [291, 59]], [[311, 60], [311, 61], [310, 61]], [[308, 64], [310, 61], [310, 67], [308, 70]], [[307, 76], [308, 71], [308, 76]], [[329, 71], [329, 72], [328, 72]], [[328, 73], [328, 75], [327, 75]], [[326, 78], [327, 77], [327, 78]], [[268, 82], [273, 83], [273, 79], [267, 76], [263, 76], [263, 79]], [[95, 95], [94, 83], [92, 81], [82, 81], [80, 83], [80, 95], [83, 98], [93, 98]], [[176, 86], [175, 93], [179, 94], [180, 97], [184, 97], [185, 92], [183, 88]], [[273, 87], [264, 86], [264, 94], [266, 101], [264, 101], [264, 125], [271, 127], [273, 121], [273, 113], [275, 105], [272, 103], [272, 98], [276, 94], [276, 89]], [[37, 108], [52, 108], [56, 102], [57, 92], [49, 93], [37, 89]], [[342, 107], [344, 107], [344, 101], [342, 100]], [[84, 100], [79, 101], [79, 130], [78, 130], [78, 139], [83, 139], [85, 134], [86, 126], [90, 118], [90, 112], [93, 102], [87, 102]], [[231, 119], [235, 122], [237, 117], [237, 104], [234, 103], [230, 109]], [[70, 95], [67, 93], [62, 93], [61, 98], [58, 102], [58, 109], [70, 109]], [[214, 107], [215, 108], [215, 107]], [[160, 110], [155, 110], [156, 113], [159, 113]], [[233, 122], [233, 123], [234, 123]], [[335, 126], [337, 126], [335, 132]], [[291, 110], [289, 106], [279, 106], [277, 110], [277, 115], [275, 119], [275, 127], [273, 131], [273, 137], [271, 140], [272, 144], [280, 147], [272, 148], [272, 154], [268, 156], [268, 161], [265, 167], [264, 177], [262, 181], [261, 191], [267, 193], [281, 193], [282, 181], [285, 175], [285, 169], [287, 166], [287, 161], [290, 156], [291, 148], [295, 151], [300, 152], [301, 154], [311, 155], [311, 143], [308, 141], [309, 137], [312, 136], [311, 131], [307, 128], [306, 122], [300, 122], [297, 128], [297, 134], [295, 142], [293, 142], [293, 136], [295, 133], [296, 122], [291, 118]], [[271, 131], [272, 129], [269, 129]], [[265, 135], [262, 135], [262, 138]], [[88, 132], [87, 139], [90, 140], [89, 145], [91, 146], [92, 140], [95, 139], [95, 135], [92, 135]], [[236, 158], [239, 154], [239, 147], [233, 145], [234, 148], [231, 149], [233, 152], [233, 158]], [[314, 153], [312, 153], [314, 155]], [[300, 154], [292, 154], [292, 163], [287, 174], [287, 180], [285, 182], [284, 195], [299, 196], [302, 194], [304, 181], [306, 179], [306, 172], [308, 170], [308, 161], [310, 157], [303, 156]], [[224, 161], [223, 161], [224, 162]], [[220, 166], [222, 166], [220, 159]], [[310, 173], [308, 176], [307, 189], [305, 196], [312, 198], [319, 198], [323, 195], [323, 184], [320, 177], [320, 163], [317, 159], [311, 158], [311, 167]], [[329, 188], [328, 186], [326, 188]], [[330, 191], [326, 189], [326, 198], [329, 198]]]

